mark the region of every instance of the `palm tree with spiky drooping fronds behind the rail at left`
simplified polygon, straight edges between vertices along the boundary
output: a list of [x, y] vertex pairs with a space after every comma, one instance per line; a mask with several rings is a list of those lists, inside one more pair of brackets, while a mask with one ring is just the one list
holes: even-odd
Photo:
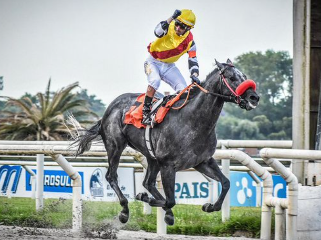
[[[92, 123], [97, 115], [88, 110], [88, 103], [76, 99], [71, 91], [78, 82], [68, 85], [52, 94], [49, 79], [45, 94], [37, 93], [37, 102], [29, 97], [8, 99], [6, 106], [18, 110], [1, 111], [0, 139], [2, 140], [66, 140], [68, 128], [65, 116], [72, 113], [80, 123]], [[79, 119], [80, 118], [80, 119]], [[90, 119], [91, 118], [91, 119]]]

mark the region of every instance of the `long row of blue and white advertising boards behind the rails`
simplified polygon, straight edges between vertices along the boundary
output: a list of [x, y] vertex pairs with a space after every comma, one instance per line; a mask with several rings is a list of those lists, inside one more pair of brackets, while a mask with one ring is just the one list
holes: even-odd
[[[36, 167], [30, 169], [37, 173]], [[84, 200], [118, 201], [118, 197], [105, 180], [107, 168], [75, 167], [82, 178]], [[143, 173], [134, 173], [134, 168], [118, 168], [118, 185], [129, 201], [139, 192], [146, 191], [142, 186]], [[286, 182], [273, 175], [273, 194], [286, 197]], [[221, 185], [213, 191], [219, 193]], [[21, 166], [0, 165], [0, 195], [31, 197], [31, 177]], [[175, 183], [175, 199], [178, 204], [204, 204], [210, 199], [209, 182], [199, 172], [178, 172]], [[72, 198], [72, 180], [60, 167], [45, 167], [45, 198]], [[217, 196], [214, 196], [216, 199]], [[256, 206], [256, 182], [246, 172], [230, 172], [231, 206]]]

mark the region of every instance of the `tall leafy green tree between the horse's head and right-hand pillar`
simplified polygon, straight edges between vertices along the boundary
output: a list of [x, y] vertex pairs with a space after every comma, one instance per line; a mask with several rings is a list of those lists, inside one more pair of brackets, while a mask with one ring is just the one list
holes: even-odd
[[[224, 105], [223, 111], [240, 119], [255, 121], [261, 137], [265, 139], [291, 139], [292, 126], [292, 59], [288, 52], [248, 52], [238, 56], [234, 65], [256, 82], [260, 95], [259, 106], [250, 112], [232, 104]], [[259, 117], [258, 117], [259, 116]], [[287, 124], [280, 124], [286, 119]], [[220, 121], [218, 128], [221, 127]], [[282, 125], [282, 128], [280, 126]], [[280, 133], [281, 131], [282, 134]], [[275, 133], [270, 135], [271, 133]]]

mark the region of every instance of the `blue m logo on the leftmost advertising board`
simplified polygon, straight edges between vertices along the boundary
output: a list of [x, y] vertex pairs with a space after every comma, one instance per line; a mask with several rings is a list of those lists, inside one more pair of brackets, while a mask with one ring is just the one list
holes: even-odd
[[18, 188], [18, 183], [20, 179], [20, 174], [21, 174], [22, 167], [21, 166], [9, 166], [9, 165], [3, 165], [0, 167], [0, 182], [3, 179], [3, 176], [5, 174], [5, 178], [3, 181], [3, 185], [1, 187], [1, 192], [6, 193], [7, 189], [9, 187], [10, 180], [15, 174], [14, 179], [13, 179], [13, 184], [11, 187], [11, 192], [16, 193], [17, 188]]

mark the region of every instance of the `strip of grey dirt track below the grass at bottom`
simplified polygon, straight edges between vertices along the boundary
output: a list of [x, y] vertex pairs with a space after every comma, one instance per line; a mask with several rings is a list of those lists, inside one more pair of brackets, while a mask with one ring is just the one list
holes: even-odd
[[[184, 235], [158, 235], [144, 231], [118, 231], [108, 233], [104, 239], [118, 240], [255, 240], [244, 237], [204, 237], [204, 236], [184, 236]], [[94, 235], [94, 233], [93, 233]], [[102, 236], [102, 235], [100, 235]], [[73, 236], [70, 230], [47, 229], [47, 228], [22, 228], [12, 226], [0, 226], [1, 240], [89, 240], [103, 239], [87, 236]]]

